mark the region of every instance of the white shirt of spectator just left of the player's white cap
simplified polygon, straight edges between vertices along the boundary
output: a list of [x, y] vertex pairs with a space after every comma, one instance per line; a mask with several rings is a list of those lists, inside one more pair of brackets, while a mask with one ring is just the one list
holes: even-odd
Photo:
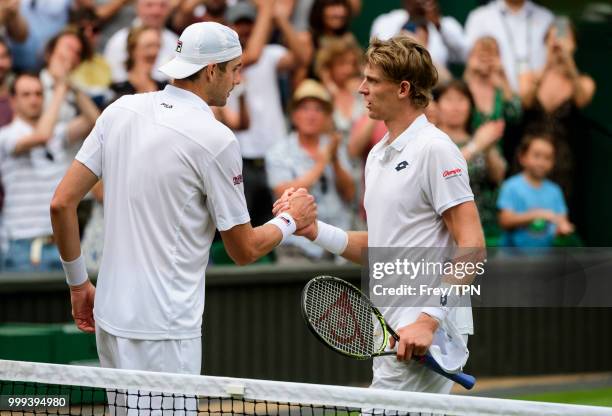
[[[106, 43], [104, 48], [104, 59], [111, 67], [113, 82], [123, 82], [127, 80], [127, 69], [125, 61], [127, 60], [127, 37], [130, 33], [130, 27], [124, 27], [115, 33]], [[157, 55], [151, 76], [157, 81], [167, 81], [168, 77], [157, 70], [161, 65], [174, 58], [174, 50], [178, 36], [169, 29], [163, 29], [161, 32], [161, 48]]]

